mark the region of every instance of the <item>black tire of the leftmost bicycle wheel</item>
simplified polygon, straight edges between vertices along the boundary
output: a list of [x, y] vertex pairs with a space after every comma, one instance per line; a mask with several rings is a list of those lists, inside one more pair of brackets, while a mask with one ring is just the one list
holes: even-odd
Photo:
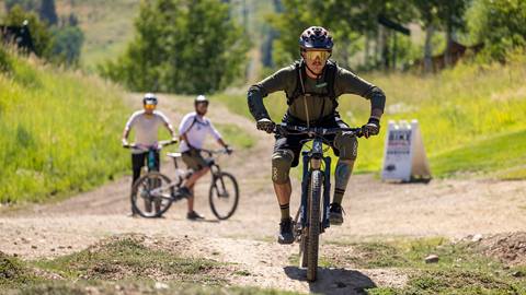
[[[152, 198], [152, 200], [151, 200], [152, 203], [156, 203], [156, 202], [160, 203], [159, 210], [155, 210], [155, 212], [145, 212], [145, 210], [141, 210], [138, 202], [140, 202], [144, 199], [138, 196], [139, 194], [139, 189], [141, 188], [142, 185], [149, 184], [151, 180], [160, 180], [160, 182], [161, 182], [160, 186], [168, 186], [171, 182], [171, 180], [168, 176], [165, 176], [161, 173], [158, 173], [158, 172], [149, 172], [149, 173], [142, 175], [141, 177], [139, 177], [134, 182], [134, 186], [132, 187], [132, 196], [130, 196], [132, 205], [134, 208], [134, 211], [145, 219], [156, 219], [156, 217], [162, 216], [162, 214], [164, 214], [170, 209], [170, 206], [172, 205], [172, 202], [173, 202], [172, 199], [164, 199], [163, 198], [163, 199], [160, 199], [160, 200], [156, 200], [156, 198]], [[162, 182], [165, 182], [165, 184], [162, 184]], [[173, 194], [173, 190], [174, 189], [172, 187], [170, 189], [171, 194]]]

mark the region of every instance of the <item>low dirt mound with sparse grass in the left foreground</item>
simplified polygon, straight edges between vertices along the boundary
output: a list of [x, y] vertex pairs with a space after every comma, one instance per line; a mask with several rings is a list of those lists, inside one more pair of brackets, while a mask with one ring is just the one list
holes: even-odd
[[52, 263], [59, 269], [77, 271], [84, 280], [115, 281], [146, 276], [153, 280], [221, 283], [217, 278], [224, 278], [229, 272], [217, 261], [185, 258], [178, 252], [178, 246], [168, 240], [136, 234], [117, 235]]

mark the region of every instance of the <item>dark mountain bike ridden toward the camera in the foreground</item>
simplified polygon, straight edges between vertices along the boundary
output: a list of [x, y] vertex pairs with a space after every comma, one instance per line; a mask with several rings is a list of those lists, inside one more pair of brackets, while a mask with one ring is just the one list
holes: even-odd
[[299, 243], [299, 267], [307, 268], [308, 281], [316, 281], [319, 236], [330, 226], [331, 157], [323, 155], [329, 149], [323, 149], [323, 143], [329, 145], [325, 137], [339, 132], [362, 137], [361, 128], [307, 128], [282, 123], [274, 129], [274, 133], [282, 135], [308, 134], [309, 139], [304, 143], [312, 141], [312, 148], [301, 152], [301, 203], [294, 220], [294, 235]]

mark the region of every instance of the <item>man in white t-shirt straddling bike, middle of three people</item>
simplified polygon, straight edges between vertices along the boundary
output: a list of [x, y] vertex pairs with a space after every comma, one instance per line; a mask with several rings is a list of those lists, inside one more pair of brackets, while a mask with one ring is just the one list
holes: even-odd
[[211, 134], [214, 139], [227, 151], [228, 144], [221, 139], [221, 134], [216, 130], [211, 121], [205, 117], [208, 111], [208, 99], [204, 95], [198, 95], [194, 99], [195, 111], [186, 114], [179, 126], [181, 139], [180, 152], [183, 162], [188, 169], [193, 169], [192, 176], [185, 180], [180, 189], [181, 194], [186, 194], [188, 200], [188, 211], [186, 219], [203, 220], [204, 217], [194, 211], [194, 186], [197, 179], [203, 177], [210, 168], [206, 160], [201, 154], [201, 149], [205, 142], [206, 135]]

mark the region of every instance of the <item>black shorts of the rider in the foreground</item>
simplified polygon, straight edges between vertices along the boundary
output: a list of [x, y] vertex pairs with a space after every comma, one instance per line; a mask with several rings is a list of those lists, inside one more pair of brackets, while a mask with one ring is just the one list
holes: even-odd
[[[290, 123], [294, 123], [294, 122], [290, 122]], [[335, 119], [333, 119], [333, 120], [328, 120], [325, 122], [322, 122], [316, 126], [310, 126], [310, 127], [347, 128], [348, 126], [343, 121], [336, 121]], [[301, 149], [304, 148], [305, 141], [309, 139], [309, 135], [307, 134], [290, 135], [289, 134], [286, 137], [276, 135], [275, 138], [276, 138], [276, 142], [274, 143], [274, 152], [278, 150], [290, 150], [294, 153], [294, 161], [293, 161], [291, 167], [298, 166]], [[334, 138], [335, 138], [334, 134], [327, 135], [325, 140], [330, 143], [332, 150], [334, 151], [334, 154], [336, 156], [340, 156], [340, 151], [336, 148], [334, 148]]]

